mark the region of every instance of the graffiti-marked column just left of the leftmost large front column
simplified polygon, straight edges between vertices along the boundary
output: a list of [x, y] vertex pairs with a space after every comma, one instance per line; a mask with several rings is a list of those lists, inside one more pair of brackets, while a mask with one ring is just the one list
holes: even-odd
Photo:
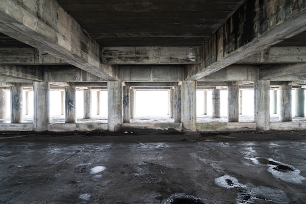
[[11, 86], [11, 123], [22, 122], [22, 86]]

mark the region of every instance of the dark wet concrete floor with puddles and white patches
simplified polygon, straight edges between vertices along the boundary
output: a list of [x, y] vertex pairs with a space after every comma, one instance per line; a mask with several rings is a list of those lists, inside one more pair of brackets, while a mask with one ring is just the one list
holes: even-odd
[[8, 133], [3, 204], [302, 204], [306, 131]]

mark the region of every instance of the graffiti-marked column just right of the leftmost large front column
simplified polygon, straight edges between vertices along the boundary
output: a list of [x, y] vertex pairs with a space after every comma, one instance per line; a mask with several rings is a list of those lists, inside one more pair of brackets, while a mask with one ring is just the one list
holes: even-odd
[[76, 88], [75, 86], [65, 87], [65, 122], [76, 123]]

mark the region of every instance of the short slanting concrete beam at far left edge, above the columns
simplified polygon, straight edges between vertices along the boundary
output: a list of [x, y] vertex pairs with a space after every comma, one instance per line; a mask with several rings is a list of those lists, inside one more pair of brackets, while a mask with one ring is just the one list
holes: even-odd
[[44, 69], [31, 65], [0, 65], [0, 75], [19, 80], [44, 82]]

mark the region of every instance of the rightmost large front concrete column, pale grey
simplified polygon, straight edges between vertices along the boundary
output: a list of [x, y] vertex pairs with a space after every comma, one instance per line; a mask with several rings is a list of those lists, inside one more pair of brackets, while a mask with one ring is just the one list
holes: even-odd
[[270, 129], [270, 81], [254, 81], [254, 120], [256, 129]]

